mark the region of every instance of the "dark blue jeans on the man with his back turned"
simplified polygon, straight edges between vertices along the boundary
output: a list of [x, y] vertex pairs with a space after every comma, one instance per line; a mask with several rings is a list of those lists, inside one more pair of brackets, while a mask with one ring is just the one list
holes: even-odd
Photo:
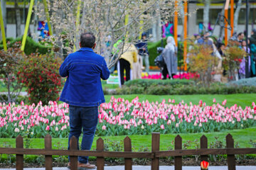
[[[70, 139], [75, 136], [78, 140], [82, 135], [82, 150], [90, 150], [95, 135], [98, 121], [98, 107], [69, 106], [70, 109], [70, 135], [68, 137], [68, 149], [70, 149]], [[79, 142], [78, 142], [79, 149]], [[68, 157], [70, 160], [70, 157]], [[87, 164], [88, 157], [78, 157], [78, 161]]]

